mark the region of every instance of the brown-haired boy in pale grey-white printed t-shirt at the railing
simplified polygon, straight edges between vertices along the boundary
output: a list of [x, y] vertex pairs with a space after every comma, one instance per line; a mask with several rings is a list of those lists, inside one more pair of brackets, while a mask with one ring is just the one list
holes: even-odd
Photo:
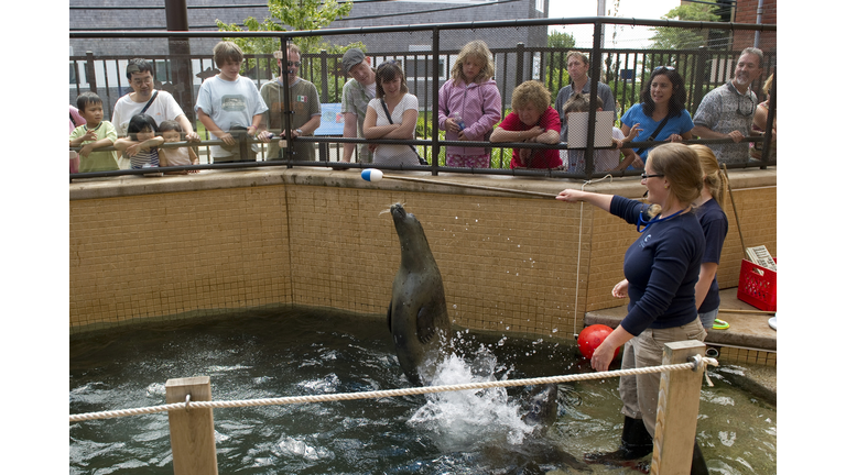
[[[212, 158], [218, 162], [254, 162], [258, 146], [249, 147], [248, 156], [241, 156], [238, 137], [232, 131], [245, 130], [247, 137], [258, 136], [270, 142], [267, 131], [259, 132], [262, 112], [268, 110], [259, 89], [249, 78], [239, 75], [243, 52], [232, 42], [219, 42], [213, 49], [215, 64], [220, 73], [203, 81], [194, 110], [212, 135], [224, 141], [225, 146], [212, 147]], [[242, 133], [237, 133], [243, 137]]]

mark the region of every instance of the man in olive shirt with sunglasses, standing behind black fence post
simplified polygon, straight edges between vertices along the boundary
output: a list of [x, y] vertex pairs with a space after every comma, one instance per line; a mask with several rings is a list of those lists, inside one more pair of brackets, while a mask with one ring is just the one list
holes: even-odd
[[[321, 126], [321, 99], [314, 84], [301, 78], [300, 48], [295, 44], [288, 46], [288, 65], [283, 65], [282, 52], [273, 53], [279, 65], [280, 76], [261, 87], [261, 98], [268, 104], [262, 125], [279, 136], [285, 136], [285, 111], [293, 110], [291, 117], [291, 133], [293, 136], [310, 136]], [[288, 75], [288, 87], [293, 107], [285, 106], [285, 90], [282, 75]], [[293, 159], [314, 161], [314, 142], [293, 141]], [[279, 147], [279, 142], [272, 141], [268, 146], [268, 159], [286, 158]]]

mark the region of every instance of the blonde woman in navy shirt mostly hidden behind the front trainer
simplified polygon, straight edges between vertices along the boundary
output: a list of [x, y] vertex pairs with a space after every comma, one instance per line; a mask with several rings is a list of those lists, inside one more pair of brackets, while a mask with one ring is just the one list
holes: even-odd
[[728, 234], [728, 218], [723, 212], [723, 203], [728, 192], [728, 177], [719, 169], [714, 152], [705, 145], [688, 145], [699, 159], [705, 186], [699, 198], [693, 201], [696, 206], [696, 218], [705, 234], [705, 252], [702, 255], [699, 281], [696, 283], [696, 308], [705, 330], [714, 327], [714, 320], [719, 311], [719, 286], [717, 285], [717, 267], [723, 252], [723, 242]]

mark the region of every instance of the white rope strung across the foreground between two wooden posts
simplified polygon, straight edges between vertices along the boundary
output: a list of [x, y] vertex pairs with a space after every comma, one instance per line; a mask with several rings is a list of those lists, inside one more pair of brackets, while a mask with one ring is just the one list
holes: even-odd
[[[281, 398], [246, 399], [246, 400], [231, 400], [231, 401], [192, 400], [191, 408], [192, 409], [220, 409], [220, 408], [254, 407], [254, 406], [281, 406], [281, 405], [289, 405], [289, 404], [332, 402], [332, 401], [339, 401], [339, 400], [380, 399], [386, 397], [411, 396], [411, 395], [446, 393], [446, 391], [469, 390], [469, 389], [487, 389], [487, 388], [495, 388], [495, 387], [512, 387], [512, 386], [531, 386], [531, 385], [543, 385], [543, 384], [570, 383], [570, 382], [577, 382], [577, 380], [604, 379], [608, 377], [630, 376], [630, 375], [682, 371], [682, 369], [697, 371], [697, 368], [699, 367], [699, 365], [702, 365], [702, 363], [705, 363], [712, 366], [717, 366], [719, 364], [714, 358], [696, 355], [693, 357], [693, 361], [690, 363], [680, 363], [680, 364], [668, 365], [668, 366], [650, 366], [650, 367], [642, 367], [642, 368], [617, 369], [611, 372], [598, 372], [598, 373], [589, 373], [589, 374], [582, 374], [582, 375], [547, 376], [547, 377], [529, 378], [529, 379], [466, 383], [466, 384], [458, 384], [458, 385], [426, 386], [426, 387], [364, 391], [364, 393], [341, 393], [341, 394], [327, 394], [327, 395], [313, 395], [313, 396], [290, 396], [290, 397], [281, 397]], [[112, 418], [126, 417], [126, 416], [143, 416], [143, 415], [167, 412], [167, 411], [183, 410], [183, 409], [187, 410], [187, 405], [188, 405], [188, 401], [186, 399], [186, 401], [184, 402], [174, 402], [174, 404], [167, 404], [162, 406], [72, 415], [70, 422], [80, 422], [80, 421], [94, 420], [94, 419], [112, 419]]]

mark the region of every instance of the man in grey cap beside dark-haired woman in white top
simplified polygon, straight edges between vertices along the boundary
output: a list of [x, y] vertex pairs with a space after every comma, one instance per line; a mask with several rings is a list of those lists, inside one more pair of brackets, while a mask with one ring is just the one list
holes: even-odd
[[[340, 112], [344, 114], [344, 136], [364, 139], [365, 115], [367, 103], [376, 97], [376, 70], [370, 66], [370, 58], [359, 48], [350, 48], [341, 59], [344, 73], [352, 77], [344, 85], [340, 100]], [[344, 144], [341, 162], [349, 163], [356, 144]], [[373, 154], [367, 144], [358, 146], [358, 163], [372, 163]]]

